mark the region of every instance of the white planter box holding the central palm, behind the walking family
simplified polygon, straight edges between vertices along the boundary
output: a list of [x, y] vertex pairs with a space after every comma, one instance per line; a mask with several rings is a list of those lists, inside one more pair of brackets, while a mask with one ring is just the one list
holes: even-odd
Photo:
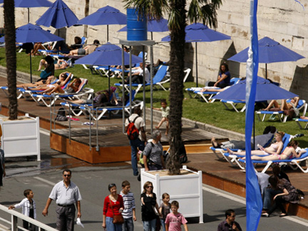
[[144, 183], [150, 181], [158, 197], [158, 205], [163, 202], [163, 193], [168, 193], [170, 202], [179, 202], [179, 212], [184, 217], [199, 217], [199, 222], [203, 223], [202, 172], [193, 172], [184, 165], [180, 175], [167, 173], [167, 170], [145, 172], [144, 168], [141, 169], [141, 191]]

